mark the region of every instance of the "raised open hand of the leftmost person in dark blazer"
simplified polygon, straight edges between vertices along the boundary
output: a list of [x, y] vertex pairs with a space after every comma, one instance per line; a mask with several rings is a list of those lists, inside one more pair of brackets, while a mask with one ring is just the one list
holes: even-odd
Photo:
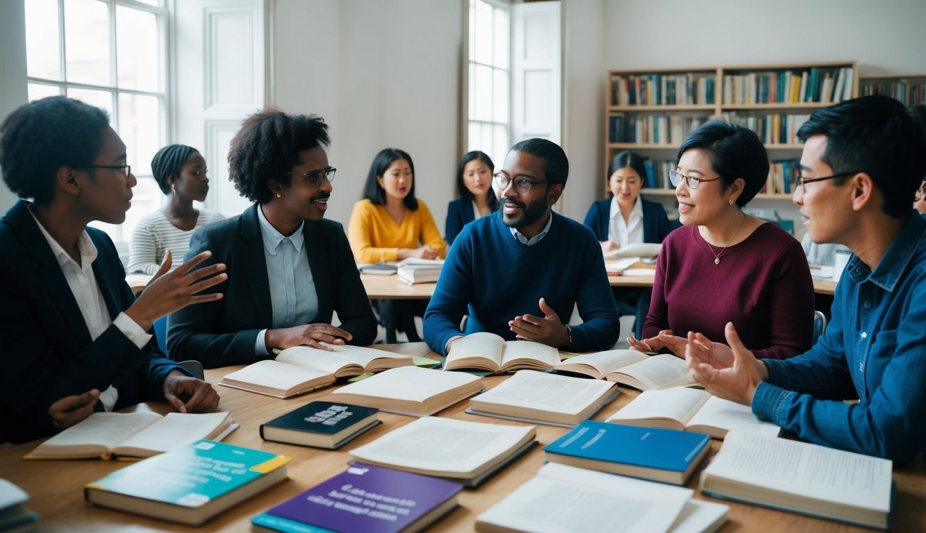
[[203, 252], [173, 272], [168, 272], [171, 256], [170, 252], [165, 254], [164, 262], [157, 269], [155, 277], [148, 282], [135, 303], [126, 309], [125, 314], [147, 331], [161, 316], [169, 315], [190, 304], [221, 299], [220, 292], [199, 294], [228, 279], [228, 274], [223, 273], [225, 265], [222, 263], [195, 268], [211, 255], [212, 252]]

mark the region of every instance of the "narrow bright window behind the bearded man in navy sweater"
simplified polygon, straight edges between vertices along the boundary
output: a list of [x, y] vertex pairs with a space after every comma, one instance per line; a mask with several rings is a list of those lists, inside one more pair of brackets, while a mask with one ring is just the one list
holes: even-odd
[[469, 0], [468, 150], [501, 167], [510, 148], [509, 6]]

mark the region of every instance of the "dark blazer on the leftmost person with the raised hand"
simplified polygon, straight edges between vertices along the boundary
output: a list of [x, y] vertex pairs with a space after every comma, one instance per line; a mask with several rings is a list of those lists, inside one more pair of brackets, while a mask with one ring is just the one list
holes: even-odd
[[[25, 442], [54, 433], [48, 407], [91, 389], [119, 390], [116, 408], [163, 400], [163, 383], [179, 368], [160, 356], [156, 342], [140, 350], [109, 326], [95, 341], [41, 229], [20, 200], [0, 219], [0, 442]], [[94, 277], [109, 316], [133, 302], [125, 269], [106, 233], [87, 228], [96, 246]], [[102, 404], [97, 403], [97, 410]]]

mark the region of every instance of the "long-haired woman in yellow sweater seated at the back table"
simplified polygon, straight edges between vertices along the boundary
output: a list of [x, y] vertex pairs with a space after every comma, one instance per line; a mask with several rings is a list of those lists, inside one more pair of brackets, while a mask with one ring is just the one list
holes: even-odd
[[[431, 210], [415, 197], [415, 164], [406, 152], [386, 148], [373, 158], [347, 237], [358, 263], [444, 257], [444, 239]], [[377, 302], [386, 341], [395, 341], [396, 330], [404, 331], [408, 341], [420, 341], [415, 316], [423, 315], [427, 306], [427, 300]]]

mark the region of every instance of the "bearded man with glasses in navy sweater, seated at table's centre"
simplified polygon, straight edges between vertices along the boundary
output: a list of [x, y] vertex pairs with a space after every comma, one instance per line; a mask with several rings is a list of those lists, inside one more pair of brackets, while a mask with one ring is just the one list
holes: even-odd
[[[556, 143], [515, 144], [494, 175], [499, 211], [464, 227], [424, 314], [424, 339], [446, 355], [462, 335], [489, 331], [577, 352], [610, 349], [618, 312], [594, 233], [557, 215], [569, 160]], [[582, 324], [566, 326], [578, 304]], [[463, 316], [469, 315], [461, 331]]]

